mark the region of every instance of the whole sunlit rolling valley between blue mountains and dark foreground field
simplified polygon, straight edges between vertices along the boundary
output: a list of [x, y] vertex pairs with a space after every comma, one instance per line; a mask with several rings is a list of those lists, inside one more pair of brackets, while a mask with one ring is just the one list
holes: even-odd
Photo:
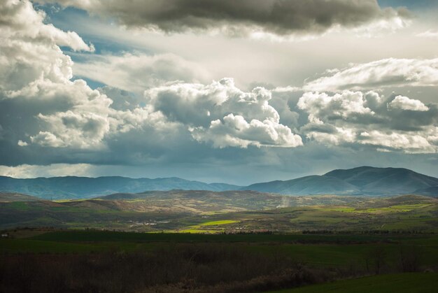
[[196, 234], [438, 231], [438, 199], [172, 190], [85, 200], [0, 202], [0, 229], [14, 227]]

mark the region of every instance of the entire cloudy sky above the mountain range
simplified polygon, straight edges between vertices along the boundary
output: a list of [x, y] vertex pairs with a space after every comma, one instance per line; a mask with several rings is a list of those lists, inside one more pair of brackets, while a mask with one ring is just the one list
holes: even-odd
[[0, 175], [438, 177], [438, 1], [4, 0]]

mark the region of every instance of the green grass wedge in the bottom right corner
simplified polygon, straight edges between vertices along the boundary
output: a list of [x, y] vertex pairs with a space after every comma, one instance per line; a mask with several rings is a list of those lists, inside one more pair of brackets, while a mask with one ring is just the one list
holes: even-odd
[[431, 293], [437, 292], [438, 273], [402, 273], [341, 280], [271, 293]]

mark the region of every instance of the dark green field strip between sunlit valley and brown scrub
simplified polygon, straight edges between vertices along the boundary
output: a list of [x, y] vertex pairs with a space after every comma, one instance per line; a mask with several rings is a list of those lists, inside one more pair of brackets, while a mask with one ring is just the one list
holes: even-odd
[[438, 264], [437, 235], [369, 234], [168, 234], [111, 231], [49, 231], [29, 238], [0, 239], [0, 253], [87, 253], [109, 250], [132, 252], [174, 243], [222, 243], [262, 255], [284, 255], [312, 266], [351, 266], [364, 269], [376, 250], [388, 264], [400, 253], [411, 253], [425, 265]]

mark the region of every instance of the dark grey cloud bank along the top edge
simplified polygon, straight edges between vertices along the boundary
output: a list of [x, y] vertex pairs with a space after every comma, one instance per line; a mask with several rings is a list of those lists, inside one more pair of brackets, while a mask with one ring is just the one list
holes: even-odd
[[127, 27], [178, 33], [216, 31], [228, 35], [323, 34], [330, 29], [404, 27], [404, 8], [381, 8], [376, 0], [40, 0], [74, 6], [118, 20]]

